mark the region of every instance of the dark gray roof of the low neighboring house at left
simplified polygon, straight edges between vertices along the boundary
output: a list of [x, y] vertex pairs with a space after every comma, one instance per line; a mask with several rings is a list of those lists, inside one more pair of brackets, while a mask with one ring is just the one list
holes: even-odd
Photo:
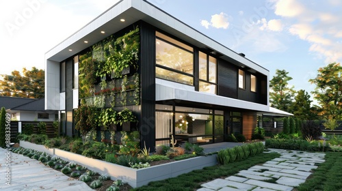
[[16, 98], [0, 96], [0, 107], [11, 111], [45, 111], [44, 98]]

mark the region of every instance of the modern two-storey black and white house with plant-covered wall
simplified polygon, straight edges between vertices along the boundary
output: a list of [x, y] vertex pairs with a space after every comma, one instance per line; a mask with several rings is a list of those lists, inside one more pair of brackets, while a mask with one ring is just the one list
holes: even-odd
[[[127, 61], [118, 55], [131, 56], [123, 76], [105, 64]], [[192, 143], [219, 143], [232, 133], [251, 138], [258, 117], [291, 115], [269, 106], [267, 69], [147, 1], [118, 2], [45, 59], [45, 109], [60, 112], [68, 136], [77, 134], [80, 102], [129, 108], [139, 119], [140, 145], [151, 149], [172, 135]]]

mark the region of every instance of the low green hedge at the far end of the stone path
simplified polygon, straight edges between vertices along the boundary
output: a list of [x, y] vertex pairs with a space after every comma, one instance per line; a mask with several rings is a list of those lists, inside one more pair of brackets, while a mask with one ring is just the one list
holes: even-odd
[[306, 141], [302, 139], [268, 138], [265, 140], [268, 148], [289, 149], [299, 151], [329, 151], [329, 144], [325, 141]]

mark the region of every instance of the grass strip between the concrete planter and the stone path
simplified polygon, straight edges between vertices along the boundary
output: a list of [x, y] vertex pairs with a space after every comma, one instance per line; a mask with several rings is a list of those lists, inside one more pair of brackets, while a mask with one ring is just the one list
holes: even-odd
[[195, 170], [190, 173], [179, 175], [170, 179], [161, 181], [153, 181], [148, 183], [148, 186], [142, 186], [132, 190], [196, 190], [201, 188], [200, 185], [207, 181], [218, 178], [226, 178], [239, 173], [241, 170], [246, 170], [251, 166], [265, 163], [269, 160], [279, 157], [279, 153], [259, 153], [256, 156], [250, 156], [246, 160], [232, 162], [225, 165], [215, 165], [205, 167], [200, 170]]

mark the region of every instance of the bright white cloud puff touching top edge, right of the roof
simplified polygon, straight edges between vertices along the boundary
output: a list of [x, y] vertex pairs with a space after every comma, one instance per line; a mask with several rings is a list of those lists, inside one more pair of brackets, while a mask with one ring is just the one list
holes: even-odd
[[289, 17], [298, 16], [302, 14], [305, 9], [302, 4], [295, 0], [279, 0], [275, 7], [275, 14]]

